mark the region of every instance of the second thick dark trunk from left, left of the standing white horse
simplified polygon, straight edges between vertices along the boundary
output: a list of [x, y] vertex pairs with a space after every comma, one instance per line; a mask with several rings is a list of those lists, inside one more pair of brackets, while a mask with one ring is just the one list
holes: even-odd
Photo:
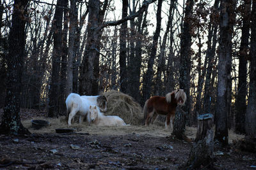
[[60, 108], [60, 61], [61, 61], [61, 27], [63, 19], [63, 0], [58, 0], [54, 14], [54, 33], [52, 51], [52, 74], [49, 90], [49, 111], [48, 117], [59, 117]]

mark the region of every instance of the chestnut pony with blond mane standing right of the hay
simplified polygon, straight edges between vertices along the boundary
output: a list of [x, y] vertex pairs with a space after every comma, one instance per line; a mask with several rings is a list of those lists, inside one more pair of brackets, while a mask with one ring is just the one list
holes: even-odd
[[173, 119], [175, 117], [175, 109], [178, 106], [184, 105], [187, 96], [183, 89], [174, 90], [166, 94], [166, 97], [152, 96], [147, 99], [143, 108], [144, 124], [153, 124], [158, 115], [166, 115], [165, 128], [170, 125], [173, 129]]

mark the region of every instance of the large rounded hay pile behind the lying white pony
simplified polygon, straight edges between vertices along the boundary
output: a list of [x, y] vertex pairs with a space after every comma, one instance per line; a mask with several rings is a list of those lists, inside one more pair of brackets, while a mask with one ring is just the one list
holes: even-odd
[[108, 99], [108, 109], [104, 115], [116, 115], [122, 118], [126, 124], [141, 125], [143, 121], [142, 108], [131, 96], [116, 90], [110, 90], [103, 95]]

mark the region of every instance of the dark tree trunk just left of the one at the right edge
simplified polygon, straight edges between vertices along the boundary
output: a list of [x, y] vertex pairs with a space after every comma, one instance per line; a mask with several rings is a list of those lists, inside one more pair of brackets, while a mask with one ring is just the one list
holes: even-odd
[[250, 11], [252, 0], [244, 0], [243, 27], [241, 45], [239, 49], [239, 71], [238, 87], [236, 96], [236, 132], [245, 134], [245, 113], [246, 113], [246, 64], [248, 59], [248, 45], [250, 36]]

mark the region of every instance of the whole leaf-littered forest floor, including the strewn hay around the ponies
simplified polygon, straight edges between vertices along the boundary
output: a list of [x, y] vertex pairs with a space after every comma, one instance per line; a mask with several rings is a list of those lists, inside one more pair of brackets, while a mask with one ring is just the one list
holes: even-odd
[[[20, 117], [32, 134], [0, 135], [0, 169], [179, 169], [193, 146], [170, 136], [162, 124], [96, 127], [84, 122], [72, 124], [74, 133], [57, 134], [55, 129], [67, 128], [63, 117], [50, 119], [33, 110], [22, 110]], [[33, 119], [50, 125], [33, 129]], [[195, 127], [186, 128], [188, 138], [195, 134]], [[230, 147], [214, 150], [215, 169], [256, 169], [256, 154], [233, 145], [243, 137], [229, 131]]]

